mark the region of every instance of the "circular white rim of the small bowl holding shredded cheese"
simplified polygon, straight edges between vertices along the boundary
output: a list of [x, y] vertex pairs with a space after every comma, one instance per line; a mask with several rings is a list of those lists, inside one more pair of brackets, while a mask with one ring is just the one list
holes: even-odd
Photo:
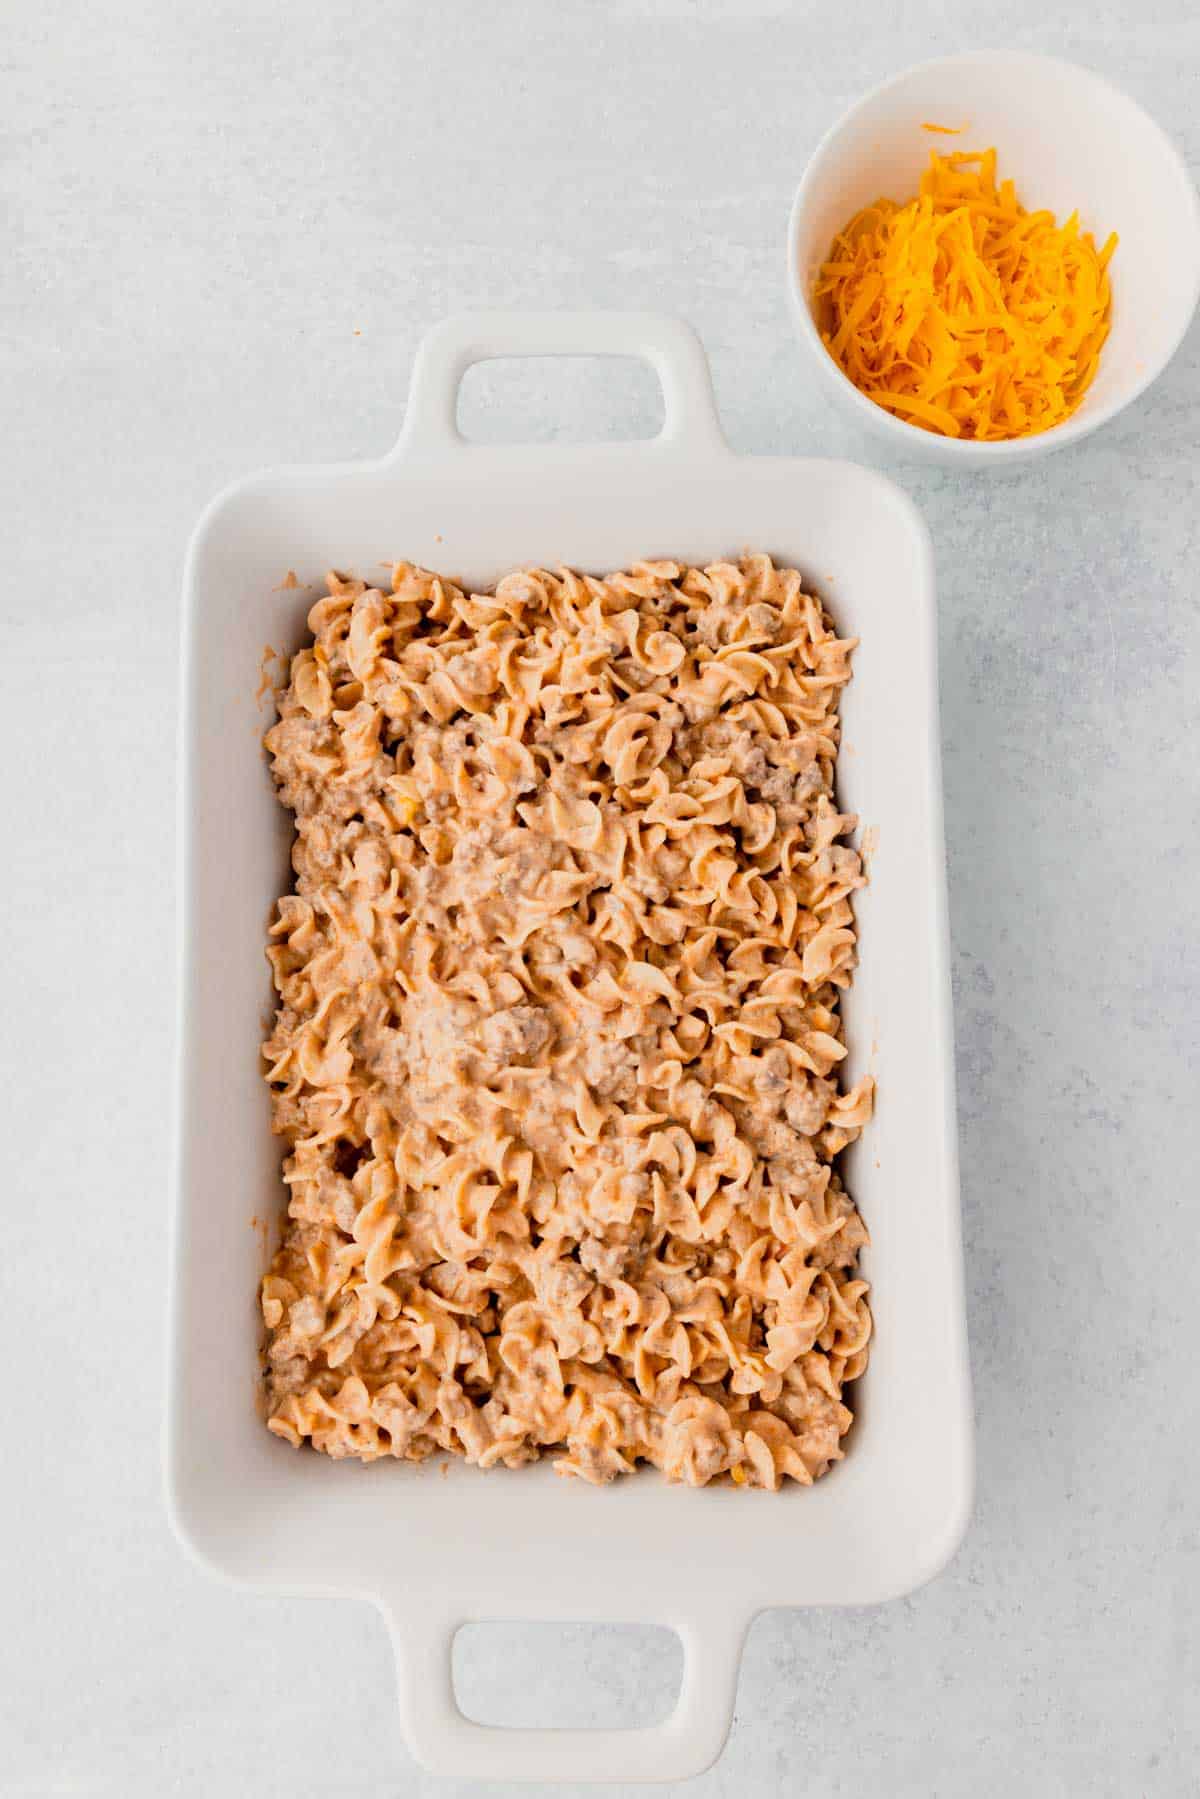
[[[912, 425], [907, 419], [898, 419], [894, 414], [887, 410], [887, 407], [880, 407], [874, 399], [869, 399], [867, 394], [860, 392], [860, 389], [855, 387], [851, 378], [838, 367], [838, 363], [833, 360], [833, 356], [820, 340], [820, 333], [808, 308], [808, 299], [801, 279], [801, 266], [797, 254], [801, 219], [804, 218], [804, 212], [808, 209], [808, 201], [815, 187], [817, 175], [820, 173], [820, 167], [826, 162], [835, 140], [851, 124], [851, 121], [856, 119], [860, 113], [864, 113], [869, 106], [874, 106], [874, 103], [880, 101], [885, 94], [891, 94], [892, 88], [901, 86], [914, 76], [921, 76], [930, 70], [979, 67], [984, 63], [993, 63], [993, 65], [1007, 63], [1011, 67], [1038, 65], [1042, 68], [1054, 68], [1063, 76], [1092, 83], [1096, 88], [1103, 90], [1108, 99], [1115, 99], [1123, 106], [1133, 108], [1133, 112], [1137, 112], [1142, 117], [1142, 121], [1150, 126], [1151, 133], [1159, 139], [1159, 144], [1168, 155], [1168, 158], [1175, 164], [1184, 192], [1189, 198], [1191, 264], [1193, 264], [1191, 302], [1182, 313], [1178, 331], [1168, 344], [1166, 351], [1153, 362], [1153, 365], [1144, 374], [1141, 374], [1124, 392], [1115, 394], [1103, 407], [1097, 407], [1096, 412], [1090, 414], [1074, 412], [1060, 425], [1051, 425], [1051, 428], [1045, 432], [1034, 432], [1033, 435], [1027, 437], [1002, 437], [993, 443], [943, 437], [941, 432], [921, 430], [919, 425]], [[801, 175], [799, 185], [795, 189], [795, 196], [792, 200], [792, 210], [788, 214], [786, 254], [788, 254], [788, 295], [792, 300], [797, 335], [801, 336], [801, 342], [813, 353], [819, 365], [822, 365], [824, 376], [826, 380], [831, 381], [833, 390], [838, 392], [846, 401], [849, 401], [851, 408], [858, 414], [860, 423], [867, 430], [889, 437], [898, 446], [898, 450], [905, 453], [916, 452], [918, 455], [925, 457], [936, 455], [939, 459], [945, 457], [946, 461], [955, 461], [955, 462], [1013, 462], [1031, 455], [1047, 455], [1051, 450], [1061, 450], [1069, 443], [1078, 443], [1081, 437], [1090, 435], [1090, 432], [1099, 430], [1101, 425], [1108, 425], [1108, 421], [1114, 419], [1119, 412], [1133, 405], [1133, 401], [1139, 399], [1146, 392], [1146, 389], [1159, 380], [1166, 365], [1171, 362], [1177, 349], [1184, 342], [1184, 336], [1187, 335], [1187, 329], [1196, 311], [1196, 302], [1200, 302], [1200, 194], [1196, 192], [1196, 185], [1191, 178], [1187, 164], [1184, 162], [1184, 157], [1180, 155], [1178, 148], [1171, 142], [1171, 139], [1166, 135], [1159, 121], [1153, 119], [1146, 112], [1146, 108], [1139, 104], [1139, 101], [1135, 101], [1130, 94], [1126, 94], [1124, 88], [1119, 88], [1115, 81], [1110, 81], [1097, 70], [1087, 68], [1083, 63], [1072, 63], [1061, 56], [1042, 56], [1036, 50], [957, 50], [950, 56], [932, 56], [927, 58], [925, 61], [910, 63], [907, 68], [901, 68], [896, 74], [887, 76], [885, 81], [876, 83], [876, 86], [869, 88], [851, 106], [847, 106], [846, 112], [838, 113], [838, 117], [822, 133], [817, 146], [813, 148], [808, 164], [804, 166], [804, 173]]]

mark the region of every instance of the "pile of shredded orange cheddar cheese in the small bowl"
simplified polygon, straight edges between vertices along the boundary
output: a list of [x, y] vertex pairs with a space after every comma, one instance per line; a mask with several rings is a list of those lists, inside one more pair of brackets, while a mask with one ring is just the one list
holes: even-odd
[[1108, 336], [1108, 263], [1079, 216], [1025, 212], [997, 153], [930, 153], [916, 200], [876, 200], [817, 275], [824, 344], [876, 405], [945, 437], [1070, 417]]

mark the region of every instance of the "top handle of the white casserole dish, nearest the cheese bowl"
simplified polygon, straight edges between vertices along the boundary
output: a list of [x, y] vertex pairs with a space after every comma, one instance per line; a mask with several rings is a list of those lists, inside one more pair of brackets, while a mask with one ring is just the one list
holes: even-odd
[[667, 313], [457, 313], [421, 340], [405, 426], [389, 461], [504, 455], [470, 444], [457, 425], [459, 385], [477, 362], [497, 356], [633, 356], [662, 387], [662, 430], [622, 453], [729, 455], [712, 398], [709, 358], [691, 326]]

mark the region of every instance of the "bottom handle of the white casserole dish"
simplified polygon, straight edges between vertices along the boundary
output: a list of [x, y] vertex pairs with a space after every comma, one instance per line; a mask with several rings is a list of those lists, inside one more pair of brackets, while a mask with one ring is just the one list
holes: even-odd
[[684, 1682], [662, 1723], [628, 1731], [506, 1729], [473, 1723], [453, 1691], [450, 1651], [468, 1608], [405, 1594], [383, 1601], [399, 1675], [399, 1714], [417, 1761], [459, 1779], [682, 1781], [720, 1756], [734, 1714], [748, 1614], [675, 1614]]

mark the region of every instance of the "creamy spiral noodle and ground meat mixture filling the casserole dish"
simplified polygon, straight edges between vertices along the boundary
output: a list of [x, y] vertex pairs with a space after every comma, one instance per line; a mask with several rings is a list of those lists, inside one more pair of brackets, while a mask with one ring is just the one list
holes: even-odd
[[766, 556], [329, 576], [266, 747], [290, 1189], [270, 1428], [811, 1482], [867, 1360], [837, 1157], [862, 865], [838, 639]]

